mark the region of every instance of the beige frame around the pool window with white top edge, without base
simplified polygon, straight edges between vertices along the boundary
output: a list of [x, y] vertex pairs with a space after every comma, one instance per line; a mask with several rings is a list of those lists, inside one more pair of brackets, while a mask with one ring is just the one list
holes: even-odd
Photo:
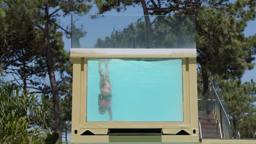
[[[172, 135], [185, 130], [198, 136], [196, 49], [71, 49], [73, 62], [72, 131], [76, 139], [86, 130], [107, 135], [109, 128], [159, 128]], [[183, 122], [86, 122], [88, 58], [179, 58], [182, 59]], [[71, 136], [71, 139], [73, 139]], [[81, 138], [82, 139], [82, 138]], [[163, 138], [162, 138], [163, 139]], [[104, 141], [103, 142], [107, 142]]]

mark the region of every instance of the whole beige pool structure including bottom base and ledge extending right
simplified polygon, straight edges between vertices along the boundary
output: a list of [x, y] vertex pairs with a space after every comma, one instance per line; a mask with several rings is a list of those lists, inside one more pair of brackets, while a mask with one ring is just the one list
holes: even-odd
[[[73, 99], [71, 143], [256, 143], [254, 140], [199, 140], [196, 49], [71, 49]], [[183, 122], [86, 122], [88, 58], [180, 58]], [[109, 135], [109, 129], [160, 129], [160, 135]], [[185, 135], [184, 135], [185, 134]]]

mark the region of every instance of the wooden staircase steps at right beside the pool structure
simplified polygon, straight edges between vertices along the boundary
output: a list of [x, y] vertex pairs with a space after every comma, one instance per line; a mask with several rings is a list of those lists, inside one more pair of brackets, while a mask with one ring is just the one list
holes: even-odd
[[214, 111], [199, 111], [202, 138], [220, 138], [218, 117]]

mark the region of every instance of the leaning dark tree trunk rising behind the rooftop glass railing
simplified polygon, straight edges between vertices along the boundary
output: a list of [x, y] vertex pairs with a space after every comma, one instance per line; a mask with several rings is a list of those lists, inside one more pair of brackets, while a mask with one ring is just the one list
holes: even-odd
[[153, 32], [152, 32], [152, 27], [150, 25], [148, 8], [145, 3], [145, 0], [141, 0], [141, 4], [142, 4], [142, 8], [143, 8], [144, 19], [145, 19], [146, 29], [147, 29], [147, 34], [148, 34], [148, 47], [146, 47], [146, 48], [153, 48]]

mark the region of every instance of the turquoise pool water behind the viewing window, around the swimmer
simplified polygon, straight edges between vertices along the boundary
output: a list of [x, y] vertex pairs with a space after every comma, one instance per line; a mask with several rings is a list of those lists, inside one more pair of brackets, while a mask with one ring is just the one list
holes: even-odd
[[[88, 59], [87, 122], [109, 121], [109, 111], [100, 114], [98, 102], [104, 109], [110, 107], [111, 121], [183, 121], [182, 59], [136, 60], [106, 62], [112, 96], [98, 99], [101, 93], [98, 62], [105, 60]], [[101, 68], [105, 74], [104, 62]]]

